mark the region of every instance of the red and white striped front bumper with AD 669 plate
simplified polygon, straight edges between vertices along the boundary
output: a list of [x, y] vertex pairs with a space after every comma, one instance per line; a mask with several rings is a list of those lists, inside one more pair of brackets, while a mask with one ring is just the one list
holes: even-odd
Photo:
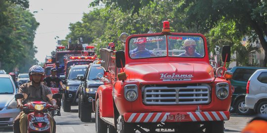
[[124, 113], [128, 123], [227, 121], [229, 111]]

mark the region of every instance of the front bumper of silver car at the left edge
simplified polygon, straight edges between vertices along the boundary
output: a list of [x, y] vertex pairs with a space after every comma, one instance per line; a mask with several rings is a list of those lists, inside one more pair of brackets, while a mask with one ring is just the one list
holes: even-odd
[[0, 127], [3, 126], [12, 126], [14, 119], [18, 116], [20, 110], [19, 109], [6, 109], [4, 107], [0, 110]]

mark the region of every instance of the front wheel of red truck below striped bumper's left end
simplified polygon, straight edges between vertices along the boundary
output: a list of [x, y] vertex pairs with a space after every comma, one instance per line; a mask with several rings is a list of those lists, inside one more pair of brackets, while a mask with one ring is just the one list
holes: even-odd
[[133, 126], [130, 123], [125, 122], [123, 116], [119, 116], [117, 121], [118, 133], [135, 133]]

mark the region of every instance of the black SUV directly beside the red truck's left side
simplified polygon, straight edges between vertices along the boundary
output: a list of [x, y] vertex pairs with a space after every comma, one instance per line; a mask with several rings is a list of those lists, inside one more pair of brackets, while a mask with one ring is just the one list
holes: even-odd
[[[79, 88], [79, 118], [82, 122], [91, 120], [92, 106], [95, 100], [97, 88], [103, 84], [99, 78], [103, 77], [104, 68], [101, 64], [90, 63], [85, 76], [79, 77], [81, 85]], [[98, 77], [98, 78], [97, 78]]]

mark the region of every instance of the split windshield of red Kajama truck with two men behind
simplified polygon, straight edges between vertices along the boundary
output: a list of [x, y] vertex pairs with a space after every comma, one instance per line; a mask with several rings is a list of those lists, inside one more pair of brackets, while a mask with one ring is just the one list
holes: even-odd
[[129, 42], [129, 55], [132, 59], [166, 56], [202, 58], [204, 53], [204, 40], [201, 36], [147, 36], [131, 38]]

